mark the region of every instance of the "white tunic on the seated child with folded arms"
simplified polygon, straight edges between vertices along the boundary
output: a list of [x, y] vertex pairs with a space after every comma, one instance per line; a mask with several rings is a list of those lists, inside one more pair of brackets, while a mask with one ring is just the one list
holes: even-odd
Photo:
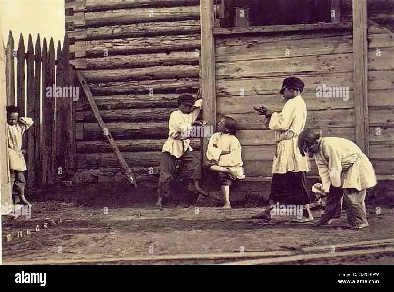
[[[214, 147], [216, 144], [217, 147]], [[230, 154], [220, 155], [222, 151], [230, 151]], [[214, 133], [208, 143], [206, 158], [218, 161], [219, 166], [230, 168], [236, 172], [238, 179], [244, 179], [243, 161], [241, 158], [242, 147], [234, 135], [224, 133]]]

